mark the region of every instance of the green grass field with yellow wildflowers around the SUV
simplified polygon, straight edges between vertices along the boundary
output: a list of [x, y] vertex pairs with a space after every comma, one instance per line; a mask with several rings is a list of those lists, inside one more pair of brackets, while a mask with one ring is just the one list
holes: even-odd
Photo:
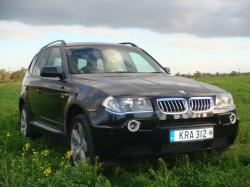
[[240, 117], [236, 143], [223, 154], [71, 167], [64, 145], [19, 134], [20, 84], [0, 84], [0, 186], [250, 186], [250, 77], [198, 80], [230, 91]]

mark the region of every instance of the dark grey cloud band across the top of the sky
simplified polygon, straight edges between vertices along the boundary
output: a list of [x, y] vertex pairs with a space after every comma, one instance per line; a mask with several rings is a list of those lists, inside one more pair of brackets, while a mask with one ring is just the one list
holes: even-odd
[[249, 0], [0, 0], [0, 20], [248, 37], [249, 9]]

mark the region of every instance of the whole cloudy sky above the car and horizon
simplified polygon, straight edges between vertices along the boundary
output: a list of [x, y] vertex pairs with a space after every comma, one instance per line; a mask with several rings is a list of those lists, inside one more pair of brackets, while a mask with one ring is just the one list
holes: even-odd
[[249, 0], [0, 0], [0, 69], [47, 43], [133, 42], [172, 73], [250, 72]]

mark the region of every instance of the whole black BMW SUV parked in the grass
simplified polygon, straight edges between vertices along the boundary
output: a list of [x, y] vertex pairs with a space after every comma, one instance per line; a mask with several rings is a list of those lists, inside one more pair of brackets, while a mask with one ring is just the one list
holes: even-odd
[[20, 96], [21, 133], [63, 135], [74, 163], [230, 146], [230, 93], [171, 76], [133, 43], [52, 42], [33, 58]]

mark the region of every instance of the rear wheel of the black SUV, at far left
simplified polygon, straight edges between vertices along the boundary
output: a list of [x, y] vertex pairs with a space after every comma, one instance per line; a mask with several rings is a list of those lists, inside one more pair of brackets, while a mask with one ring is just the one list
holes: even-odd
[[23, 137], [31, 137], [35, 138], [36, 133], [33, 132], [29, 123], [29, 113], [27, 111], [27, 107], [23, 104], [20, 110], [20, 132]]

